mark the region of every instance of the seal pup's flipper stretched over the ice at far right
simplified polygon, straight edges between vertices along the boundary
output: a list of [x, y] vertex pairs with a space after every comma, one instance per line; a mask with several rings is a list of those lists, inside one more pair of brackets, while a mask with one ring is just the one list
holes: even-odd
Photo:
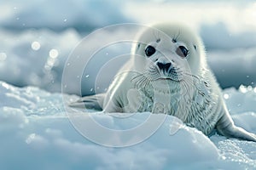
[[248, 133], [241, 127], [236, 127], [230, 116], [222, 116], [217, 122], [218, 133], [228, 137], [256, 142], [256, 134]]

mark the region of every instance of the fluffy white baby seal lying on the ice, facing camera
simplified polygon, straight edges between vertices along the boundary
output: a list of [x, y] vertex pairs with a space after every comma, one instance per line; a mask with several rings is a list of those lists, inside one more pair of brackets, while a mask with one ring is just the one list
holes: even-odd
[[201, 38], [177, 24], [157, 24], [140, 32], [131, 59], [107, 93], [71, 104], [78, 105], [104, 112], [169, 114], [206, 135], [216, 128], [228, 138], [256, 142], [255, 134], [234, 125]]

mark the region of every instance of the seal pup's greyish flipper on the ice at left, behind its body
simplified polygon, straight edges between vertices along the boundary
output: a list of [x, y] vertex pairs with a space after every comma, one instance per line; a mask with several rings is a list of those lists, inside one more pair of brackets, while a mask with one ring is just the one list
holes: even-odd
[[95, 109], [102, 111], [102, 105], [106, 94], [95, 94], [90, 96], [84, 96], [79, 100], [70, 103], [70, 107], [84, 108], [84, 109]]

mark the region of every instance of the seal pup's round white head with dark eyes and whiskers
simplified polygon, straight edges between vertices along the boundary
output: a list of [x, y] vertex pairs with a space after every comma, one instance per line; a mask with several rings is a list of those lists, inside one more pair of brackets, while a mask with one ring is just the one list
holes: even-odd
[[140, 33], [133, 48], [135, 69], [148, 79], [181, 82], [206, 66], [201, 39], [189, 28], [157, 24]]

